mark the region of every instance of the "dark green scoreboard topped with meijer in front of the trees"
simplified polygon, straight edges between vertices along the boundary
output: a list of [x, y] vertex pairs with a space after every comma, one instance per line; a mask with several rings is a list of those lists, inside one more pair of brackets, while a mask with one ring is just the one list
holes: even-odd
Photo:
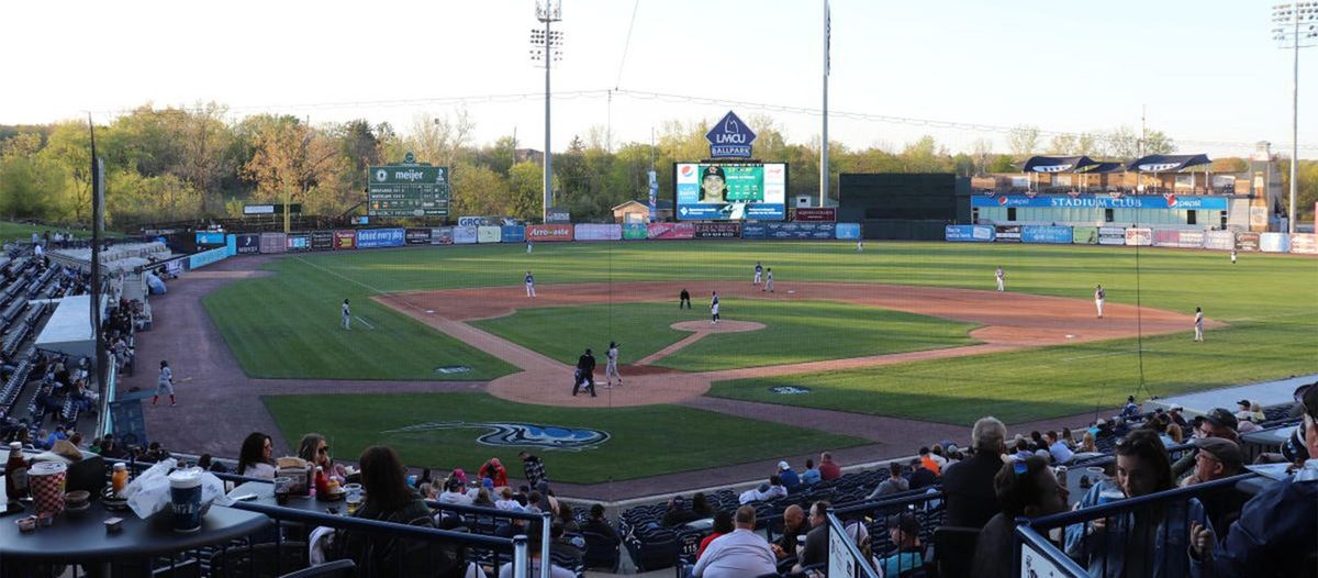
[[448, 216], [449, 195], [448, 168], [415, 162], [413, 153], [366, 170], [369, 216]]

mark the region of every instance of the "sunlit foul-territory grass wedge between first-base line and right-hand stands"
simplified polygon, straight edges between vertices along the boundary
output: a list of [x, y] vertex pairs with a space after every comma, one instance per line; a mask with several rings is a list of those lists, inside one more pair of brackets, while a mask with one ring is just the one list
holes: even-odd
[[1127, 395], [1190, 391], [1313, 373], [1318, 314], [1239, 321], [1143, 340], [1119, 339], [815, 375], [714, 383], [710, 396], [782, 404], [775, 385], [811, 388], [792, 405], [971, 425], [983, 416], [1024, 422], [1120, 404]]

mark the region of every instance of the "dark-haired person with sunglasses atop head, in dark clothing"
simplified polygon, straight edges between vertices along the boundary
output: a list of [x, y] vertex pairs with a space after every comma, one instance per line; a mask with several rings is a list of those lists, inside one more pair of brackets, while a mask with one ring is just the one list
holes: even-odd
[[978, 578], [1011, 575], [1017, 517], [1066, 511], [1066, 488], [1057, 483], [1048, 462], [1039, 457], [1003, 465], [994, 476], [994, 492], [1002, 511], [988, 520], [975, 541]]

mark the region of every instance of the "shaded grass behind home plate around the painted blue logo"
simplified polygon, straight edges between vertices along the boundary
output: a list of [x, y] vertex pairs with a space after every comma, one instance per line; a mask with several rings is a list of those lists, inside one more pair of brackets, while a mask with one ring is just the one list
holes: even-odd
[[270, 396], [262, 401], [290, 443], [307, 432], [318, 432], [330, 439], [340, 459], [355, 461], [366, 446], [384, 443], [414, 467], [461, 467], [474, 472], [486, 459], [497, 457], [518, 478], [521, 449], [473, 443], [473, 438], [486, 432], [484, 428], [390, 430], [424, 422], [513, 421], [608, 432], [612, 438], [596, 449], [530, 450], [544, 459], [550, 479], [569, 483], [647, 478], [866, 443], [677, 405], [550, 408], [484, 393]]

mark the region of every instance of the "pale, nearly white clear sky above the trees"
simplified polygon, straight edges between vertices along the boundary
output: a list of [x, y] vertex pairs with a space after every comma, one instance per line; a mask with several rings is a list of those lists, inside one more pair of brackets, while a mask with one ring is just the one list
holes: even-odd
[[[1143, 111], [1181, 152], [1289, 150], [1292, 53], [1272, 38], [1271, 7], [834, 0], [829, 137], [900, 149], [931, 135], [952, 152], [988, 139], [1007, 152], [1004, 127], [1137, 131]], [[617, 148], [729, 110], [818, 139], [822, 0], [563, 0], [561, 15], [554, 150], [592, 127]], [[214, 100], [235, 119], [407, 132], [465, 110], [477, 144], [515, 132], [544, 146], [534, 0], [20, 1], [0, 4], [0, 124]], [[1318, 48], [1300, 53], [1300, 95], [1301, 156], [1318, 157]]]

